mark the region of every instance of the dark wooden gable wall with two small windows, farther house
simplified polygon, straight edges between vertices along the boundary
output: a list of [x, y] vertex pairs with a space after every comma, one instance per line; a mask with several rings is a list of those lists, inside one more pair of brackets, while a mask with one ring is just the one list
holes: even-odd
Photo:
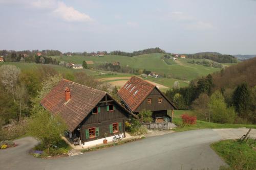
[[[152, 103], [147, 104], [147, 99], [151, 98]], [[162, 103], [158, 103], [158, 98], [162, 98]], [[151, 111], [163, 111], [163, 110], [171, 110], [174, 107], [165, 99], [156, 88], [152, 90], [152, 92], [146, 97], [146, 99], [140, 104], [140, 106], [135, 110], [135, 112], [140, 112], [143, 109], [151, 110]]]

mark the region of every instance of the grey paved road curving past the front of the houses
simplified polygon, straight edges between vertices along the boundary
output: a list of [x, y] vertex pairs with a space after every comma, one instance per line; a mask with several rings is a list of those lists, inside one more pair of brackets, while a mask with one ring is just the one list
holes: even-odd
[[25, 137], [15, 141], [19, 144], [17, 147], [0, 151], [0, 169], [181, 169], [181, 166], [183, 170], [218, 169], [225, 162], [209, 144], [223, 138], [236, 138], [245, 131], [203, 129], [172, 133], [51, 160], [29, 155], [37, 141]]

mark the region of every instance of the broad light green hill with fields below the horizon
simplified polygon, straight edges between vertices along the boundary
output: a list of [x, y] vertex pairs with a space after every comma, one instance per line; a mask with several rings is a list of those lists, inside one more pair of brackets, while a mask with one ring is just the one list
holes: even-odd
[[[103, 57], [83, 57], [83, 56], [53, 56], [58, 61], [73, 62], [75, 64], [81, 64], [83, 60], [93, 61], [93, 64], [89, 64], [91, 67], [97, 67], [97, 65], [104, 63], [119, 62], [121, 66], [130, 66], [135, 69], [146, 69], [157, 74], [167, 77], [193, 80], [201, 76], [206, 76], [212, 72], [220, 70], [220, 68], [206, 67], [203, 65], [190, 64], [187, 61], [192, 59], [178, 59], [173, 61], [172, 59], [161, 59], [164, 54], [145, 54], [134, 57], [126, 56], [113, 56], [106, 55]], [[202, 61], [207, 59], [194, 59], [195, 61]]]

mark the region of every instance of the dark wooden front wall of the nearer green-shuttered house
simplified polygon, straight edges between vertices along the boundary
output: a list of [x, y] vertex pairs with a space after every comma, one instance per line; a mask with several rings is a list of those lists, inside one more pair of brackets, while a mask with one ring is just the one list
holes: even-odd
[[[109, 106], [113, 106], [113, 110], [110, 110]], [[98, 113], [93, 113], [92, 111], [80, 124], [81, 142], [104, 138], [105, 133], [107, 134], [106, 137], [121, 134], [125, 130], [124, 122], [129, 117], [129, 114], [108, 94], [105, 95], [96, 107], [98, 108]], [[118, 124], [117, 132], [113, 132], [111, 128], [115, 123]], [[97, 130], [97, 135], [92, 138], [87, 134], [90, 128]]]

